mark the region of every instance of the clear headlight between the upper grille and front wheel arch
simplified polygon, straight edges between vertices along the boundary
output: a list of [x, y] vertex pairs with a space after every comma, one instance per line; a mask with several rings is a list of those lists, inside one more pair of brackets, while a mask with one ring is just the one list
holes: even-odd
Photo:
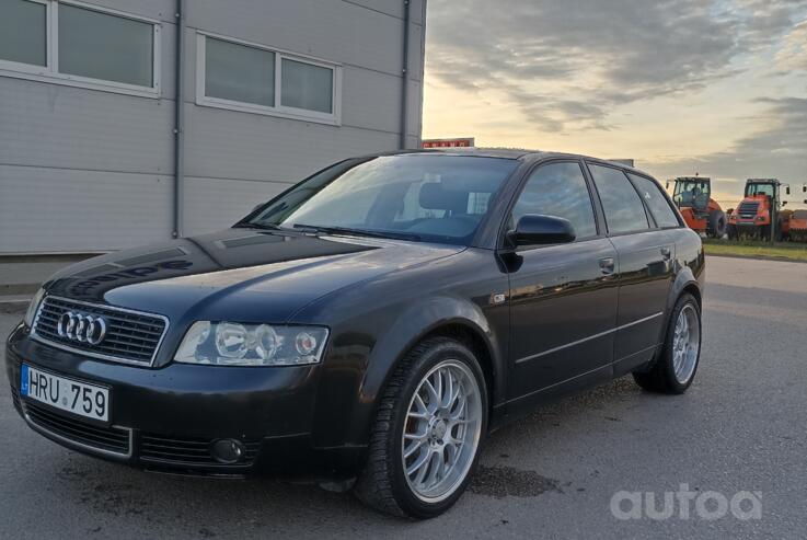
[[322, 326], [197, 321], [174, 360], [216, 366], [299, 366], [316, 364], [327, 340]]

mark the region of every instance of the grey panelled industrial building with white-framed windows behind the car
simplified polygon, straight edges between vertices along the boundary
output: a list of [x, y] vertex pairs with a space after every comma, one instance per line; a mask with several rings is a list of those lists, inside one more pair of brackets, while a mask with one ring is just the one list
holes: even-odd
[[416, 148], [425, 14], [426, 0], [0, 0], [0, 255], [221, 229], [331, 162]]

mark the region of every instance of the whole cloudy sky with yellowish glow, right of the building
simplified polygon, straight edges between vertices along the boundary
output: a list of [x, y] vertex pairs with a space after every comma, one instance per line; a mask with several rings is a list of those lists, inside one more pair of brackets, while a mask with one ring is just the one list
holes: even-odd
[[428, 1], [425, 138], [807, 182], [807, 0]]

